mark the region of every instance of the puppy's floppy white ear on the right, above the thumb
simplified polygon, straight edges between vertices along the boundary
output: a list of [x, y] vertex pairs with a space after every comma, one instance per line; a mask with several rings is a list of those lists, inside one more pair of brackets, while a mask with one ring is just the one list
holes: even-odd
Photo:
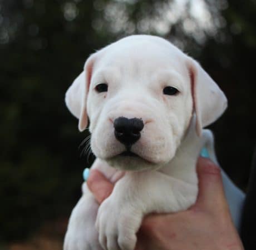
[[208, 73], [194, 59], [189, 58], [191, 91], [196, 114], [196, 133], [218, 119], [227, 108], [227, 98]]

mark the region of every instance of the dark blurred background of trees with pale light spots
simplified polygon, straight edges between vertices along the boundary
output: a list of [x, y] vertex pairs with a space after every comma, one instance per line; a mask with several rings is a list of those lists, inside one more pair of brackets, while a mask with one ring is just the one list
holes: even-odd
[[[86, 156], [65, 91], [96, 49], [164, 37], [227, 94], [211, 125], [221, 166], [244, 191], [256, 141], [255, 0], [0, 0], [0, 249], [61, 249]], [[88, 161], [87, 161], [88, 158]]]

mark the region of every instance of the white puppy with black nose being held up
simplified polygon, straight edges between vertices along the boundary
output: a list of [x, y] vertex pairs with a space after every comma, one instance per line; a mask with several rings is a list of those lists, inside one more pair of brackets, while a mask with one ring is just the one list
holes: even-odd
[[[92, 168], [115, 187], [99, 206], [83, 184], [65, 250], [132, 250], [145, 214], [177, 212], [195, 202], [201, 148], [216, 162], [213, 136], [202, 128], [224, 112], [227, 99], [194, 59], [163, 38], [123, 38], [87, 59], [66, 104], [80, 131], [90, 118]], [[237, 194], [233, 218], [243, 200]]]

